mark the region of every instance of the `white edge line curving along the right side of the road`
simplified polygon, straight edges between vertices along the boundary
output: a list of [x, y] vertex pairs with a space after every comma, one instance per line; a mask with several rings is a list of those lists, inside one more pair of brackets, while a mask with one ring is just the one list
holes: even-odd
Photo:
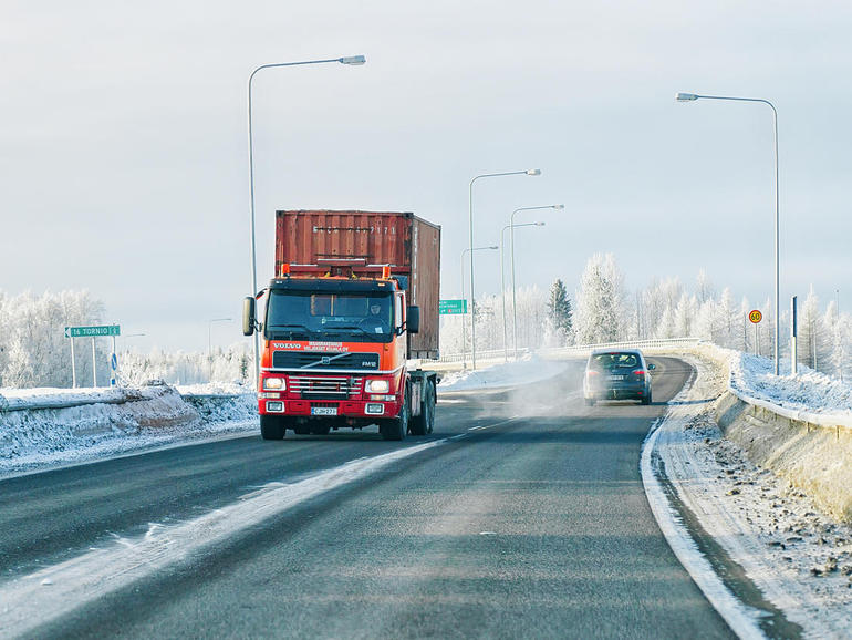
[[[693, 379], [687, 382], [684, 391], [678, 393], [676, 399], [685, 395], [685, 391], [689, 389], [692, 382]], [[663, 531], [668, 546], [680, 565], [683, 565], [713, 608], [718, 611], [731, 630], [744, 639], [766, 638], [757, 623], [755, 615], [730, 592], [721, 578], [713, 570], [710, 562], [700, 553], [689, 531], [668, 504], [663, 487], [656, 475], [654, 475], [651, 456], [656, 446], [659, 432], [667, 420], [668, 416], [659, 420], [656, 423], [656, 429], [655, 425], [652, 425], [647, 437], [642, 443], [640, 472], [642, 473], [642, 484], [645, 487], [645, 495], [647, 496], [654, 518], [657, 520], [659, 530]]]

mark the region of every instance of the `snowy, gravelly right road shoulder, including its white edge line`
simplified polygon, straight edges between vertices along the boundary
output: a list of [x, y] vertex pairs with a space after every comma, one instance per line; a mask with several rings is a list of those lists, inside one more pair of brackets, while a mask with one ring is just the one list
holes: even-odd
[[669, 545], [740, 636], [844, 636], [852, 529], [723, 436], [714, 407], [724, 373], [686, 360], [696, 376], [643, 448], [646, 494]]

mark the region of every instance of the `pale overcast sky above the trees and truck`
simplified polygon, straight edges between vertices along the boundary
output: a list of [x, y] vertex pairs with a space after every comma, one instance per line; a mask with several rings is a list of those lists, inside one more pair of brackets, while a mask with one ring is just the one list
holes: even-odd
[[[512, 209], [519, 285], [574, 290], [611, 251], [632, 288], [706, 269], [773, 290], [779, 112], [782, 304], [812, 283], [852, 310], [849, 2], [75, 2], [3, 0], [0, 290], [89, 289], [126, 345], [239, 339], [249, 293], [247, 80], [259, 279], [277, 208], [411, 210], [443, 227], [443, 297]], [[497, 252], [478, 292], [499, 290]], [[845, 301], [845, 302], [844, 302]], [[131, 342], [134, 340], [134, 342]]]

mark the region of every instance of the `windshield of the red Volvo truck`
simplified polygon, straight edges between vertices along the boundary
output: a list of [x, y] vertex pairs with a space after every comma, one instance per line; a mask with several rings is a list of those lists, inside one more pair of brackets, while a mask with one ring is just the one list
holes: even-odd
[[268, 340], [391, 342], [393, 296], [272, 289], [267, 302]]

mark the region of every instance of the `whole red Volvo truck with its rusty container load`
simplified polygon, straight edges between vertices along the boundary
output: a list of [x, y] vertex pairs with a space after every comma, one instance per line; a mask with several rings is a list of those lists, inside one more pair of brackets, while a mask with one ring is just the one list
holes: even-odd
[[412, 361], [438, 358], [439, 285], [440, 227], [414, 214], [277, 211], [276, 277], [242, 314], [263, 340], [262, 437], [430, 433], [437, 378]]

